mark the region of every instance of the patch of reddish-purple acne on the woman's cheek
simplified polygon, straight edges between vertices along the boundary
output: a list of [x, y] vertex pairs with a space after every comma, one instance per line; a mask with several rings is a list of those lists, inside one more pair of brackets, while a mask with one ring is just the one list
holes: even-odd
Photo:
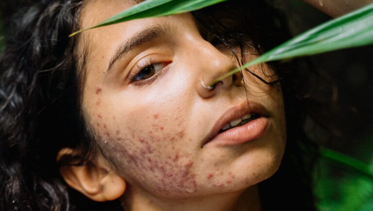
[[153, 114], [151, 130], [146, 132], [133, 130], [129, 126], [125, 127], [126, 132], [120, 132], [120, 129], [109, 131], [107, 118], [98, 115], [97, 120], [102, 126], [98, 130], [99, 136], [105, 144], [102, 147], [106, 148], [106, 154], [125, 179], [129, 177], [136, 185], [164, 195], [188, 194], [197, 190], [196, 174], [191, 170], [194, 162], [190, 154], [175, 147], [185, 136], [183, 129], [170, 135], [165, 131], [173, 130], [167, 130], [166, 126], [160, 124], [163, 122], [160, 115]]

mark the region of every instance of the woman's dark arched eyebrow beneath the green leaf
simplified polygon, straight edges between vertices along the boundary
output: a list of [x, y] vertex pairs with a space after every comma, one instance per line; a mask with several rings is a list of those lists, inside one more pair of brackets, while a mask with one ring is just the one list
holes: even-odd
[[138, 34], [129, 38], [126, 42], [122, 43], [114, 55], [111, 57], [106, 73], [109, 73], [112, 67], [122, 58], [126, 53], [134, 48], [138, 48], [145, 43], [151, 42], [154, 39], [160, 37], [161, 35], [169, 32], [170, 28], [165, 25], [158, 25], [156, 27], [147, 28]]

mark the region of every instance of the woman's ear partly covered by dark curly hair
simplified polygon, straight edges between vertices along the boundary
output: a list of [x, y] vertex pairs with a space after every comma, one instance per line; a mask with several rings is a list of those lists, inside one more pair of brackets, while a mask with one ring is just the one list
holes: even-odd
[[[112, 169], [101, 151], [93, 161], [84, 165], [60, 167], [60, 173], [68, 185], [94, 201], [111, 201], [119, 198], [126, 190], [124, 179]], [[64, 156], [76, 155], [77, 151], [63, 148], [57, 155], [57, 162]]]

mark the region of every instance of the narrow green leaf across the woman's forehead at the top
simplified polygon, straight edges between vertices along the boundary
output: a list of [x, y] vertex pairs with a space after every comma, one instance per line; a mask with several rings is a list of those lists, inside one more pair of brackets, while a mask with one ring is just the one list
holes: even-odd
[[119, 13], [116, 16], [102, 21], [96, 26], [79, 30], [70, 34], [69, 36], [74, 36], [75, 34], [83, 32], [85, 30], [121, 23], [138, 18], [170, 16], [180, 13], [186, 13], [202, 9], [203, 7], [217, 4], [222, 1], [226, 0], [145, 0]]

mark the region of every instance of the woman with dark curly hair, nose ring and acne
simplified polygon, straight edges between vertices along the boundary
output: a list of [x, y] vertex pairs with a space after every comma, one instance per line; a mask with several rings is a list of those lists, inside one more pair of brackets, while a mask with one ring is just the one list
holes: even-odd
[[135, 3], [45, 0], [18, 20], [0, 63], [1, 210], [314, 210], [296, 64], [206, 86], [287, 40], [282, 17], [230, 1], [68, 38]]

